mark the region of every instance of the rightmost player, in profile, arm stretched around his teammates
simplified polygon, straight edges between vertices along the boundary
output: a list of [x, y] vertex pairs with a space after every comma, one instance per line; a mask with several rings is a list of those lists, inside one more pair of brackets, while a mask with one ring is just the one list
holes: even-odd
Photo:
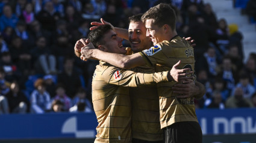
[[[156, 71], [169, 70], [181, 59], [179, 68], [194, 69], [193, 47], [177, 35], [175, 13], [169, 5], [159, 4], [150, 8], [143, 14], [142, 20], [147, 29], [146, 35], [151, 38], [154, 47], [130, 56], [83, 48], [82, 59], [98, 58], [121, 68], [143, 64], [162, 65]], [[193, 97], [178, 99], [177, 94], [172, 91], [175, 84], [176, 82], [158, 84], [160, 123], [161, 129], [164, 129], [165, 142], [202, 142], [202, 131], [196, 118]]]

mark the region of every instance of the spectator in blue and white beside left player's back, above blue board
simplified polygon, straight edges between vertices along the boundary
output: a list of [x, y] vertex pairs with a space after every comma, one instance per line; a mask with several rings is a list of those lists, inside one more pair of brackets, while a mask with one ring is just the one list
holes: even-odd
[[92, 103], [86, 98], [86, 96], [86, 90], [82, 87], [79, 88], [76, 96], [72, 100], [73, 106], [69, 109], [69, 112], [92, 112]]

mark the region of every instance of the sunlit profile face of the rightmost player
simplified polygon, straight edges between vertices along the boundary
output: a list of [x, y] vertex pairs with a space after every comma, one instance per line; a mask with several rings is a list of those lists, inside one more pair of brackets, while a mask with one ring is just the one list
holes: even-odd
[[154, 19], [147, 19], [145, 22], [146, 36], [150, 37], [152, 42], [155, 44], [165, 40], [164, 39], [164, 26], [158, 27], [154, 25]]

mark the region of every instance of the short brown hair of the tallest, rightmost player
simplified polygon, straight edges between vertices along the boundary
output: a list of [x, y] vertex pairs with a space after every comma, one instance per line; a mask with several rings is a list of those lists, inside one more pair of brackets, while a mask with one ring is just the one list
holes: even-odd
[[154, 19], [154, 25], [159, 27], [167, 24], [172, 28], [176, 29], [176, 14], [169, 4], [158, 4], [155, 7], [151, 7], [142, 16], [142, 22], [145, 23], [147, 19]]

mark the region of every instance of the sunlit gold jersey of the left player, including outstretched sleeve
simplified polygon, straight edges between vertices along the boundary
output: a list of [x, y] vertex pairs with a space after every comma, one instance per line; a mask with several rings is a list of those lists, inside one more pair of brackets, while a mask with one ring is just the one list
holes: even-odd
[[128, 87], [167, 81], [162, 73], [134, 73], [106, 62], [96, 66], [92, 102], [98, 120], [95, 142], [131, 142], [131, 101]]

